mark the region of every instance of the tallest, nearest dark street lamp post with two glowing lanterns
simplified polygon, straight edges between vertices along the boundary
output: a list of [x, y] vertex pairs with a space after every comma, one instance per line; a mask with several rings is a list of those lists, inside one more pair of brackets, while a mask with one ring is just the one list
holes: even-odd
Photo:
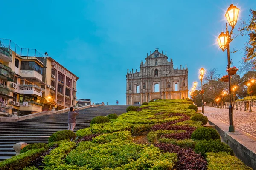
[[[239, 8], [236, 8], [236, 6], [234, 6], [233, 4], [231, 4], [229, 6], [229, 8], [227, 9], [227, 12], [225, 14], [225, 17], [227, 18], [227, 21], [229, 23], [229, 25], [232, 27], [230, 33], [227, 29], [227, 23], [226, 23], [226, 34], [224, 34], [223, 32], [221, 32], [220, 36], [218, 37], [217, 41], [218, 41], [218, 45], [220, 46], [220, 48], [222, 49], [222, 51], [225, 51], [227, 49], [227, 67], [230, 68], [230, 42], [232, 41], [231, 39], [231, 35], [233, 32], [233, 29], [235, 28], [236, 22], [237, 22], [237, 18], [238, 18], [238, 13], [239, 13]], [[235, 132], [235, 127], [234, 127], [234, 118], [233, 118], [233, 108], [232, 108], [232, 101], [231, 101], [231, 77], [230, 74], [228, 74], [228, 85], [229, 85], [229, 120], [230, 120], [230, 124], [229, 124], [229, 128], [228, 131], [229, 132]]]

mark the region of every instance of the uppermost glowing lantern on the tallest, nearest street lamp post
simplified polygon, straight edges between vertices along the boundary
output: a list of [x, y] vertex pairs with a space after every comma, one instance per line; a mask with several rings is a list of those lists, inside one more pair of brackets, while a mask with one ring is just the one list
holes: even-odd
[[227, 8], [227, 12], [225, 14], [225, 17], [227, 18], [228, 24], [234, 29], [235, 25], [237, 23], [239, 8], [236, 8], [233, 4], [231, 4]]

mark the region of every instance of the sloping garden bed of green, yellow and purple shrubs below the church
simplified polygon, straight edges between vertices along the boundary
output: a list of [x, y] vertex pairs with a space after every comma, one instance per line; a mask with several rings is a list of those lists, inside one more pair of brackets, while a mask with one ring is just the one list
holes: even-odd
[[191, 104], [186, 99], [157, 100], [130, 107], [117, 118], [96, 118], [76, 134], [58, 132], [47, 146], [27, 147], [20, 156], [0, 162], [0, 169], [251, 170], [216, 130], [202, 126], [207, 118]]

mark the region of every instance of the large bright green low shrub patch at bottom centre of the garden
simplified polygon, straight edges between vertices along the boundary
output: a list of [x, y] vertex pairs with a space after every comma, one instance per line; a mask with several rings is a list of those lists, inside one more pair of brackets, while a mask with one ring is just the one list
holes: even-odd
[[115, 139], [105, 144], [80, 142], [66, 161], [95, 170], [171, 170], [177, 162], [177, 154], [161, 153], [154, 146]]

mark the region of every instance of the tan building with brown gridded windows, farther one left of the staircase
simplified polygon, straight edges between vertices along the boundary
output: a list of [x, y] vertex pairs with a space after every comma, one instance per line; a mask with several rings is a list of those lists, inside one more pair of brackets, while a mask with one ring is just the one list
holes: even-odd
[[60, 110], [76, 105], [76, 81], [79, 78], [52, 57], [38, 59], [46, 65], [43, 69], [43, 81], [46, 83], [43, 110], [51, 110], [52, 107]]

